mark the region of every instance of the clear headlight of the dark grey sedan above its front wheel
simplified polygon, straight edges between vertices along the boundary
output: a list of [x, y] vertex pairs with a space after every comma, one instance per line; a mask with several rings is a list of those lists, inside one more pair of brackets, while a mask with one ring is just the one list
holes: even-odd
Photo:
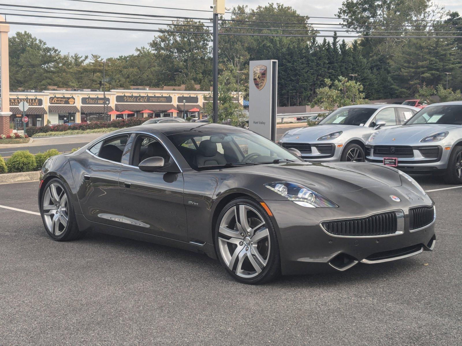
[[286, 197], [289, 201], [297, 203], [302, 207], [310, 208], [337, 208], [338, 205], [329, 201], [319, 193], [299, 184], [289, 183], [287, 181], [278, 181], [268, 183], [265, 186]]

